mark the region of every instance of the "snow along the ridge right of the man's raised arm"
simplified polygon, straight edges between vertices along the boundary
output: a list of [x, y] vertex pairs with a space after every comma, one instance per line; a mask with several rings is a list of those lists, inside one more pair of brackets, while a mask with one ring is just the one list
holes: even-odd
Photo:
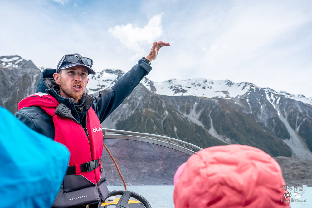
[[[142, 82], [142, 81], [141, 81]], [[204, 78], [193, 78], [188, 80], [177, 80], [170, 79], [164, 82], [151, 82], [149, 79], [143, 80], [142, 84], [157, 94], [168, 95], [168, 96], [182, 96], [182, 95], [193, 95], [197, 97], [223, 97], [225, 99], [235, 98], [242, 96], [250, 90], [264, 90], [266, 97], [270, 103], [274, 103], [280, 95], [301, 101], [312, 105], [312, 98], [307, 98], [304, 95], [290, 94], [285, 91], [276, 92], [270, 88], [260, 88], [249, 82], [234, 83], [230, 80], [208, 80]], [[153, 84], [153, 85], [151, 85]], [[153, 89], [152, 89], [153, 87]], [[274, 104], [273, 104], [274, 106]]]

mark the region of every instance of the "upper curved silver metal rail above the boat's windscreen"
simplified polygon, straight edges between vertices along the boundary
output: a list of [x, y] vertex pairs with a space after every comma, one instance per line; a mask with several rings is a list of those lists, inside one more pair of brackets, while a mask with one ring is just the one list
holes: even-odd
[[189, 147], [192, 147], [197, 150], [202, 150], [202, 148], [192, 144], [188, 143], [179, 139], [171, 138], [171, 137], [166, 137], [166, 136], [161, 136], [157, 134], [150, 134], [150, 133], [141, 133], [141, 132], [133, 132], [133, 131], [124, 131], [124, 130], [118, 130], [118, 129], [110, 129], [110, 128], [105, 128], [105, 132], [112, 132], [112, 133], [123, 133], [123, 134], [130, 134], [130, 135], [137, 135], [137, 136], [145, 136], [145, 137], [152, 137], [152, 138], [158, 138], [158, 139], [166, 139], [169, 141], [174, 141], [180, 144], [187, 145]]

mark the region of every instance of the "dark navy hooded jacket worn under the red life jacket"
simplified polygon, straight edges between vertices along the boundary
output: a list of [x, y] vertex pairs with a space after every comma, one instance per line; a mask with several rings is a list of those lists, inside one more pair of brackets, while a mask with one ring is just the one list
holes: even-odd
[[[139, 84], [145, 75], [152, 69], [142, 59], [138, 64], [132, 67], [125, 75], [123, 75], [116, 84], [108, 89], [99, 92], [98, 96], [91, 96], [84, 93], [79, 103], [83, 108], [81, 112], [77, 112], [74, 99], [62, 97], [58, 91], [58, 85], [54, 82], [53, 73], [55, 69], [45, 69], [41, 73], [40, 80], [37, 84], [36, 93], [43, 92], [54, 96], [59, 103], [64, 103], [71, 109], [72, 115], [80, 121], [83, 127], [86, 126], [86, 113], [92, 107], [102, 123], [122, 101], [131, 94], [133, 89]], [[48, 115], [40, 107], [32, 106], [20, 109], [16, 117], [25, 123], [29, 128], [41, 133], [51, 139], [54, 139], [54, 124], [52, 117]]]

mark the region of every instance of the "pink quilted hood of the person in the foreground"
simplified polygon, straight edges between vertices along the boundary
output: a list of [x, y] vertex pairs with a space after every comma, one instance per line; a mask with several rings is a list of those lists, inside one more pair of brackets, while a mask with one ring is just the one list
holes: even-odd
[[[183, 168], [183, 167], [182, 167]], [[180, 176], [178, 177], [178, 174]], [[175, 177], [176, 208], [288, 208], [279, 164], [246, 145], [206, 148], [192, 155]]]

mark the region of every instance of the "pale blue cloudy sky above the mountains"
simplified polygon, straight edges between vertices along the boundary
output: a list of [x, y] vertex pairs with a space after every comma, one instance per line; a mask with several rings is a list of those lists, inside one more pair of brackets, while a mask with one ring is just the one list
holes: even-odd
[[204, 77], [312, 97], [312, 1], [1, 1], [0, 56], [56, 68], [80, 53], [128, 71], [163, 47], [153, 81]]

